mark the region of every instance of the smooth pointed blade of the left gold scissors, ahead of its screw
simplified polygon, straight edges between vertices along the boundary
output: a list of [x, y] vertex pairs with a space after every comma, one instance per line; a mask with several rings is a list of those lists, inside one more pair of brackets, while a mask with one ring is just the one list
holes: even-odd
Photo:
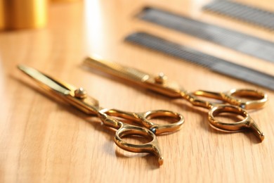
[[24, 72], [25, 74], [32, 77], [32, 79], [39, 82], [39, 84], [41, 84], [41, 87], [48, 91], [54, 91], [60, 95], [65, 96], [70, 94], [72, 90], [66, 87], [64, 84], [61, 84], [57, 80], [53, 79], [52, 77], [45, 75], [34, 68], [30, 68], [26, 65], [18, 65], [18, 68], [22, 70], [22, 72]]

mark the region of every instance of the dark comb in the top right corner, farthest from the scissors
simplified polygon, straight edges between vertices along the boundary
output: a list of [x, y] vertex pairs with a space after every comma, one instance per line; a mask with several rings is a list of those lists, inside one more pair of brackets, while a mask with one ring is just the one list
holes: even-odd
[[233, 1], [213, 1], [204, 9], [274, 30], [274, 13], [270, 11]]

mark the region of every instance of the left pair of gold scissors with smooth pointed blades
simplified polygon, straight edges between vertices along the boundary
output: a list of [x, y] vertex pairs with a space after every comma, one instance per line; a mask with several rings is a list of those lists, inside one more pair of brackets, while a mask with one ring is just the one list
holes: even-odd
[[[104, 125], [117, 129], [114, 141], [121, 149], [135, 153], [152, 153], [157, 156], [159, 165], [162, 165], [164, 159], [155, 134], [175, 132], [183, 125], [183, 115], [172, 111], [156, 110], [145, 113], [130, 113], [117, 109], [101, 108], [98, 101], [88, 96], [86, 91], [81, 87], [76, 88], [66, 82], [58, 81], [53, 77], [25, 65], [18, 65], [18, 68], [38, 82], [49, 94], [60, 97], [63, 101], [86, 114], [97, 115]], [[138, 123], [140, 126], [129, 125], [126, 122], [117, 120], [115, 117]], [[150, 121], [155, 118], [171, 120], [172, 123], [158, 125]], [[143, 137], [149, 142], [144, 144], [131, 144], [123, 140], [123, 137], [130, 138], [130, 136]]]

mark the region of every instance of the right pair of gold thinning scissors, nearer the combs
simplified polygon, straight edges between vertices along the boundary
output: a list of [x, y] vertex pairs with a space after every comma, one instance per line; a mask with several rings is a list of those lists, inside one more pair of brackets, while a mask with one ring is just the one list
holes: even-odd
[[[264, 139], [263, 132], [261, 132], [247, 111], [244, 110], [263, 107], [268, 99], [268, 96], [263, 92], [253, 89], [231, 89], [229, 92], [207, 92], [203, 90], [188, 92], [177, 82], [167, 80], [167, 77], [163, 73], [153, 76], [135, 68], [103, 61], [102, 58], [97, 55], [91, 55], [85, 58], [84, 65], [87, 65], [89, 68], [107, 72], [110, 75], [133, 82], [141, 87], [151, 89], [152, 91], [164, 94], [173, 99], [185, 99], [192, 103], [193, 106], [208, 108], [208, 120], [211, 126], [218, 130], [238, 132], [249, 128], [253, 130], [256, 137], [259, 137], [261, 141]], [[208, 99], [216, 99], [222, 103], [206, 101], [201, 99], [201, 96]], [[230, 105], [225, 103], [229, 103]], [[229, 113], [230, 115], [236, 116], [240, 115], [244, 119], [237, 122], [222, 122], [216, 118], [222, 113]]]

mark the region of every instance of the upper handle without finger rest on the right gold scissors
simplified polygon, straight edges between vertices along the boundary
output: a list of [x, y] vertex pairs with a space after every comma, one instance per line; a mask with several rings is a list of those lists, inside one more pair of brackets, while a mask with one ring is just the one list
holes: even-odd
[[208, 92], [197, 90], [195, 96], [204, 96], [219, 101], [225, 101], [231, 105], [244, 109], [262, 108], [268, 100], [267, 94], [255, 89], [230, 89], [228, 92]]

